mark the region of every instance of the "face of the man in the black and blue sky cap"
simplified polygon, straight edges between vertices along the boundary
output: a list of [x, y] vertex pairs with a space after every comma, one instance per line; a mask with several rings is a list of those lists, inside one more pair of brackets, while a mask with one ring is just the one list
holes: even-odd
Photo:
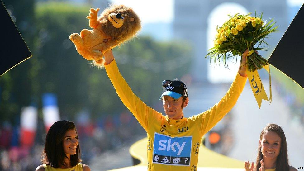
[[180, 97], [179, 99], [174, 99], [170, 96], [163, 96], [163, 107], [166, 115], [170, 119], [180, 119], [183, 116], [183, 107], [186, 107], [189, 102], [189, 99], [185, 100], [183, 102], [183, 97]]

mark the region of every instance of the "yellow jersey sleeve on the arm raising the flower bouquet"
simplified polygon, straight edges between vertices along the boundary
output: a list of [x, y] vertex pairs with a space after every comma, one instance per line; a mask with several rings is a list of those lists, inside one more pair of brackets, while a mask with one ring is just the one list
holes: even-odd
[[242, 93], [247, 77], [242, 77], [239, 73], [231, 84], [225, 96], [209, 110], [192, 116], [197, 124], [201, 136], [205, 135], [213, 126], [216, 125], [235, 105], [237, 99]]

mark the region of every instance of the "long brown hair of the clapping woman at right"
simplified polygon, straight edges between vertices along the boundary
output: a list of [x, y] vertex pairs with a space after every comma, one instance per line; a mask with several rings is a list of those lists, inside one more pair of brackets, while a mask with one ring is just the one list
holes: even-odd
[[[278, 155], [277, 161], [276, 161], [276, 171], [286, 171], [289, 170], [289, 165], [288, 165], [288, 155], [287, 155], [287, 143], [286, 143], [286, 137], [284, 134], [283, 129], [276, 125], [276, 124], [268, 124], [263, 131], [261, 132], [260, 135], [260, 140], [263, 139], [264, 134], [267, 131], [273, 131], [279, 135], [281, 138], [281, 148], [280, 148], [280, 154]], [[256, 167], [254, 170], [259, 171], [259, 168], [261, 167], [260, 161], [263, 159], [263, 154], [262, 154], [262, 148], [258, 147], [258, 155], [257, 155], [257, 160], [256, 160]]]

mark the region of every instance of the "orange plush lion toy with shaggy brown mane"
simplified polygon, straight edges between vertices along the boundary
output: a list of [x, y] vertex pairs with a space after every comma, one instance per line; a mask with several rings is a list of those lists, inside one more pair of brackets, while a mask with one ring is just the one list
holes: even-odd
[[77, 52], [87, 60], [103, 67], [103, 54], [117, 45], [130, 40], [140, 30], [140, 19], [136, 13], [124, 5], [111, 5], [97, 18], [99, 8], [91, 8], [87, 16], [89, 26], [93, 30], [83, 29], [73, 33], [70, 40], [75, 44]]

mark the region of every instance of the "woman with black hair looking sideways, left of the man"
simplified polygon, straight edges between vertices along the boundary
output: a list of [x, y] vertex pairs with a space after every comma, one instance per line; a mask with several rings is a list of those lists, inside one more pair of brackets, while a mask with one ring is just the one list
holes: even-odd
[[58, 121], [49, 129], [43, 150], [42, 165], [36, 171], [90, 171], [81, 164], [77, 130], [73, 122]]

